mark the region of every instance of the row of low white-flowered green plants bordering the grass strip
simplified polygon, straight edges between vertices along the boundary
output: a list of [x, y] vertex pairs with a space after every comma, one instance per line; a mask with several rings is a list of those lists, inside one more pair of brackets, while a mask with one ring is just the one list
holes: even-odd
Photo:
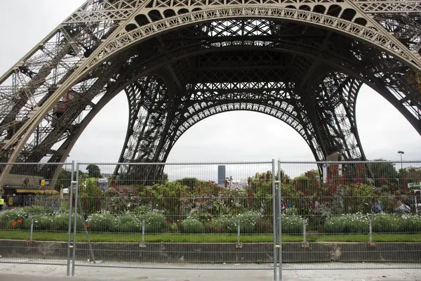
[[[200, 215], [199, 215], [200, 214]], [[147, 211], [138, 208], [133, 214], [115, 216], [108, 212], [88, 216], [88, 230], [94, 233], [140, 233], [145, 220], [146, 233], [236, 233], [240, 221], [242, 234], [272, 233], [272, 216], [262, 216], [255, 211], [246, 211], [234, 216], [221, 215], [215, 218], [201, 214], [192, 214], [180, 221], [167, 221], [162, 211]], [[29, 230], [31, 218], [34, 218], [34, 230], [68, 231], [69, 216], [55, 214], [43, 207], [25, 207], [12, 209], [0, 216], [0, 229]], [[282, 214], [283, 234], [301, 234], [302, 216], [290, 210]], [[309, 216], [307, 224], [316, 216]], [[330, 216], [323, 223], [324, 233], [368, 233], [368, 220], [373, 220], [373, 233], [421, 233], [421, 216], [412, 214], [345, 214]], [[81, 216], [77, 218], [78, 231], [83, 230]], [[74, 217], [72, 215], [72, 223]], [[72, 226], [73, 228], [73, 226]], [[308, 229], [308, 228], [307, 228]], [[319, 230], [320, 231], [320, 230]]]

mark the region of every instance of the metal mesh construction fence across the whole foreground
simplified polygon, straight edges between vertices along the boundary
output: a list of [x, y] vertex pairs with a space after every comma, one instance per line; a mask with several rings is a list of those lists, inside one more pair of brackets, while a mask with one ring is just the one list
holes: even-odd
[[421, 268], [420, 190], [421, 162], [13, 164], [0, 262]]

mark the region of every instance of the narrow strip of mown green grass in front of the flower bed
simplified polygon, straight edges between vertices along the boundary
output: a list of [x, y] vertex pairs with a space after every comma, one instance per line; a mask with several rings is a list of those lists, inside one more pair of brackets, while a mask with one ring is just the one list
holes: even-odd
[[[73, 237], [73, 235], [72, 235]], [[91, 242], [140, 242], [140, 234], [119, 233], [89, 233]], [[0, 239], [29, 240], [29, 231], [0, 230]], [[67, 233], [34, 231], [32, 239], [35, 241], [67, 242]], [[76, 233], [76, 241], [86, 242], [85, 233]], [[218, 243], [236, 242], [236, 235], [231, 234], [147, 234], [145, 242], [186, 242], [186, 243]], [[272, 242], [271, 234], [241, 235], [241, 242]], [[302, 235], [282, 235], [282, 242], [302, 242]], [[368, 235], [340, 234], [340, 235], [307, 235], [307, 242], [368, 242]], [[421, 242], [421, 234], [373, 234], [373, 242]]]

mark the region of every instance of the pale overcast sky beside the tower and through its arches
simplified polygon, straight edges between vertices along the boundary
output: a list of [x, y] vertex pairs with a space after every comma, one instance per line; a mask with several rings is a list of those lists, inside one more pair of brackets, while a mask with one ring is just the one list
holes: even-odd
[[[51, 32], [81, 0], [0, 2], [0, 72]], [[368, 159], [421, 159], [421, 137], [378, 93], [364, 86], [356, 103], [357, 125]], [[100, 112], [74, 146], [69, 160], [116, 162], [128, 122], [126, 96], [120, 93]], [[256, 112], [228, 112], [205, 119], [175, 144], [168, 162], [313, 161], [301, 136], [287, 124]]]

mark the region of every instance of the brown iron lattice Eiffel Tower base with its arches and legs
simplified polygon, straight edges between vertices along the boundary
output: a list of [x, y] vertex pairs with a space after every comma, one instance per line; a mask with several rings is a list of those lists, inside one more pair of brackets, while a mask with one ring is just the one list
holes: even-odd
[[419, 0], [88, 0], [0, 78], [0, 162], [64, 162], [121, 91], [121, 163], [165, 162], [190, 126], [232, 110], [281, 119], [316, 160], [365, 159], [362, 84], [421, 133], [420, 12]]

